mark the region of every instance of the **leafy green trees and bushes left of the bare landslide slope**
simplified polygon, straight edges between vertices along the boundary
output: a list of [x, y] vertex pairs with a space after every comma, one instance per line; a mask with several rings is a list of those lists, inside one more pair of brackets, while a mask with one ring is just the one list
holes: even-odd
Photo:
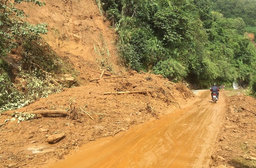
[[[48, 32], [47, 24], [23, 21], [25, 13], [16, 8], [22, 2], [45, 5], [39, 0], [0, 0], [0, 112], [60, 92], [62, 86], [54, 85], [53, 75], [71, 69], [41, 39], [40, 34]], [[10, 60], [9, 53], [19, 58]], [[12, 83], [13, 71], [19, 84]]]

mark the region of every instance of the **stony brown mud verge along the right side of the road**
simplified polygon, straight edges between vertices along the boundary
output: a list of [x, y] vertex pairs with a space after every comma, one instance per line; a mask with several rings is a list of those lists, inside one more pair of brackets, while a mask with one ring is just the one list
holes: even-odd
[[212, 155], [211, 168], [220, 165], [255, 168], [256, 100], [237, 91], [229, 97], [227, 104], [226, 118]]

